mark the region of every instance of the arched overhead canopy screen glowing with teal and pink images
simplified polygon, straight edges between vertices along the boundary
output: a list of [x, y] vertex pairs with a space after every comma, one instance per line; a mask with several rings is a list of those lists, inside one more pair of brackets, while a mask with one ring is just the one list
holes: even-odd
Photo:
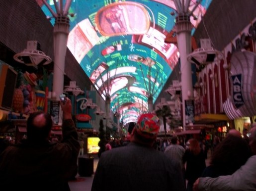
[[[165, 43], [174, 31], [174, 1], [190, 1], [193, 30], [211, 2], [72, 0], [67, 47], [101, 96], [111, 97], [110, 107], [124, 123], [148, 110], [148, 97], [156, 100], [178, 61], [175, 33], [174, 44]], [[54, 0], [47, 2], [55, 10]], [[46, 5], [41, 7], [51, 16]]]

